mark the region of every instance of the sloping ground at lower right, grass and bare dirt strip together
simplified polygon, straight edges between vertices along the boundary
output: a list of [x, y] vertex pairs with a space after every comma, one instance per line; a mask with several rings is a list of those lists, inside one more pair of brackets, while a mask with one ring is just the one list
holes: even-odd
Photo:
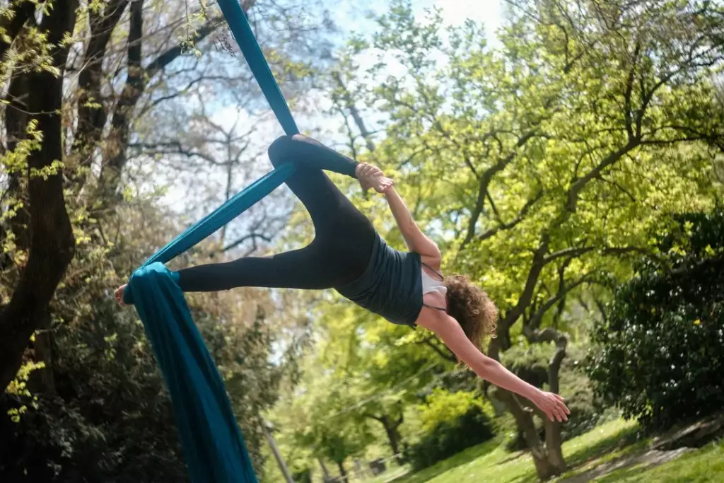
[[[611, 421], [565, 442], [570, 470], [556, 483], [720, 483], [724, 482], [724, 416], [640, 439], [638, 427]], [[714, 440], [715, 442], [711, 442]], [[385, 479], [378, 480], [384, 482]], [[531, 458], [507, 453], [500, 440], [471, 448], [416, 474], [388, 483], [534, 483]]]

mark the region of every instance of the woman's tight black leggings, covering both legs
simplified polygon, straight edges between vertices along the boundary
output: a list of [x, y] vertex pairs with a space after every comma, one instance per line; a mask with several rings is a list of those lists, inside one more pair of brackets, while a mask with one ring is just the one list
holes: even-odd
[[314, 240], [300, 250], [278, 255], [182, 269], [179, 285], [184, 292], [234, 287], [334, 288], [353, 282], [367, 268], [376, 237], [374, 227], [322, 172], [355, 177], [357, 163], [300, 135], [282, 136], [271, 143], [269, 159], [274, 167], [297, 164], [287, 186], [311, 215]]

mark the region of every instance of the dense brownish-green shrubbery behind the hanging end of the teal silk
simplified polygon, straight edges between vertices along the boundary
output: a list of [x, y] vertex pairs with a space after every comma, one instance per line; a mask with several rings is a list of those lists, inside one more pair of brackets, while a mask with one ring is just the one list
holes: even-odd
[[[131, 308], [120, 309], [109, 293], [130, 272], [148, 245], [169, 237], [167, 224], [148, 200], [136, 210], [107, 217], [119, 235], [98, 237], [97, 220], [71, 203], [77, 257], [59, 286], [51, 330], [52, 372], [29, 359], [2, 401], [0, 474], [9, 481], [183, 482], [188, 479], [171, 402]], [[146, 224], [138, 223], [143, 217]], [[125, 224], [122, 220], [129, 222]], [[114, 223], [119, 223], [112, 230]], [[243, 303], [240, 303], [243, 302]], [[190, 298], [195, 322], [219, 364], [257, 469], [265, 445], [259, 413], [274, 402], [287, 355], [270, 361], [279, 337], [271, 330], [274, 307], [264, 293], [206, 294]], [[272, 314], [266, 316], [265, 314]], [[220, 323], [222, 322], [222, 323]], [[49, 337], [51, 335], [51, 337]], [[45, 359], [43, 359], [45, 360]], [[27, 374], [26, 374], [27, 373]], [[12, 420], [17, 422], [13, 422]], [[28, 448], [33, 448], [32, 452]]]

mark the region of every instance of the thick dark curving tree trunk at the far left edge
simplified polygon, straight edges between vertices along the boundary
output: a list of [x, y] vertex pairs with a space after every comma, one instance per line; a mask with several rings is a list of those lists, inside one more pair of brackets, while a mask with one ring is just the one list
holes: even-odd
[[[10, 74], [6, 124], [9, 143], [5, 151], [8, 189], [17, 201], [20, 219], [12, 235], [25, 252], [9, 301], [0, 312], [0, 386], [6, 387], [20, 369], [21, 356], [33, 332], [47, 319], [48, 305], [73, 257], [75, 238], [65, 208], [62, 180], [63, 75], [70, 43], [66, 37], [75, 25], [77, 3], [60, 0], [38, 21], [35, 7], [12, 5], [7, 26], [9, 39], [38, 46], [38, 54], [24, 52], [25, 62]], [[4, 27], [6, 28], [6, 27]], [[3, 51], [9, 44], [3, 40]], [[13, 59], [15, 60], [15, 59]], [[20, 59], [17, 59], [20, 60]], [[12, 64], [4, 62], [6, 72]], [[27, 90], [27, 91], [26, 91]], [[29, 113], [29, 114], [26, 114]], [[22, 201], [27, 200], [27, 206]], [[29, 226], [28, 226], [29, 225]], [[28, 231], [28, 227], [32, 230]]]

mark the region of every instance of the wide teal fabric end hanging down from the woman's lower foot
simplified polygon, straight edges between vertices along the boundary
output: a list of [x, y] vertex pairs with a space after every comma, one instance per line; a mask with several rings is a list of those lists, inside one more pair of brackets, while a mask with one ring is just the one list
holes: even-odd
[[176, 277], [156, 262], [136, 270], [135, 303], [172, 396], [193, 482], [256, 482], [224, 382], [193, 323]]

